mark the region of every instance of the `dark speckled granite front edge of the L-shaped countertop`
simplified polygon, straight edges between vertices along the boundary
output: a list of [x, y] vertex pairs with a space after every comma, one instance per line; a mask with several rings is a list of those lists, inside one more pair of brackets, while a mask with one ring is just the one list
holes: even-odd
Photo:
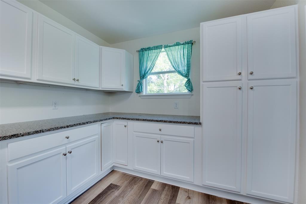
[[97, 123], [97, 122], [102, 122], [102, 121], [114, 120], [114, 119], [117, 119], [117, 120], [130, 120], [130, 121], [148, 121], [148, 122], [162, 122], [162, 123], [178, 123], [178, 124], [201, 125], [200, 122], [167, 121], [167, 120], [126, 118], [126, 117], [110, 117], [110, 118], [104, 118], [104, 119], [101, 119], [101, 120], [87, 121], [87, 122], [82, 122], [82, 123], [58, 126], [58, 127], [54, 127], [54, 128], [35, 130], [35, 131], [31, 131], [31, 132], [22, 132], [22, 133], [17, 133], [17, 134], [13, 134], [13, 135], [4, 135], [4, 136], [0, 137], [0, 141], [6, 140], [6, 139], [17, 138], [17, 137], [23, 137], [23, 136], [27, 136], [27, 135], [34, 135], [34, 134], [43, 133], [43, 132], [50, 132], [50, 131], [54, 131], [54, 130], [71, 128], [71, 127], [76, 127], [76, 126], [80, 126], [80, 125], [86, 125], [86, 124]]

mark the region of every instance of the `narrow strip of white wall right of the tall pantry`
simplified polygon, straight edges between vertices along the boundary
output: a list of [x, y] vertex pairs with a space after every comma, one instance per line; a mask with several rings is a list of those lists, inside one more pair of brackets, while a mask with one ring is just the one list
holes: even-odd
[[305, 5], [306, 1], [277, 0], [271, 9], [298, 5], [299, 59], [300, 59], [300, 153], [298, 203], [306, 203], [306, 50], [305, 50]]

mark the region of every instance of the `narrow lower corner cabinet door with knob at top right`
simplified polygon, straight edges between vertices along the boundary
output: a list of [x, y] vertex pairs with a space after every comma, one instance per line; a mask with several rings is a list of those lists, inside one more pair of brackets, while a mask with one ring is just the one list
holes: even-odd
[[128, 165], [128, 123], [114, 122], [114, 162]]

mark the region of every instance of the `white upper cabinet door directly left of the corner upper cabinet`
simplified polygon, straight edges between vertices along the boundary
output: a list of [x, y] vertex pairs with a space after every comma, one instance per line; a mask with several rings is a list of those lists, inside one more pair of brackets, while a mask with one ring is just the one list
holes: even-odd
[[99, 88], [99, 46], [76, 35], [76, 85]]

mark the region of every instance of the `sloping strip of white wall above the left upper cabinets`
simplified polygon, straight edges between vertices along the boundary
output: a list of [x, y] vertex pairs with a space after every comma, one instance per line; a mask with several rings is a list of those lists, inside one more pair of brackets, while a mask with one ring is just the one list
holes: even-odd
[[92, 42], [101, 45], [101, 46], [109, 46], [109, 43], [106, 43], [103, 39], [97, 37], [96, 35], [92, 34], [91, 32], [85, 30], [72, 20], [66, 18], [62, 14], [58, 13], [57, 11], [51, 9], [49, 6], [46, 6], [42, 2], [38, 0], [17, 0], [18, 2], [28, 6], [29, 8], [35, 10], [38, 13], [43, 14], [44, 16], [54, 20], [55, 22], [62, 24], [66, 28], [82, 35], [83, 37], [91, 40]]

